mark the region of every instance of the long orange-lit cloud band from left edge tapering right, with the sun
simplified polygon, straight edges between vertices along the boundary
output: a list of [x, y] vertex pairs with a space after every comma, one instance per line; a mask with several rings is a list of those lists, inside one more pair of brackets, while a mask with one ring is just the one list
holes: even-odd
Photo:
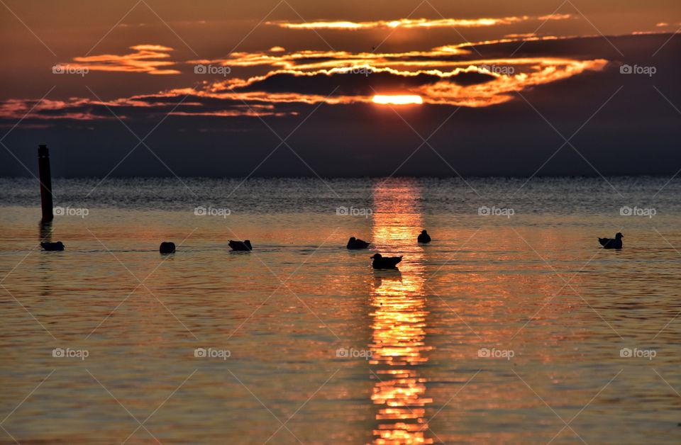
[[[175, 116], [213, 116], [233, 118], [238, 116], [294, 116], [298, 111], [282, 111], [284, 104], [328, 105], [353, 103], [406, 104], [423, 103], [471, 108], [494, 106], [510, 101], [514, 92], [542, 84], [567, 79], [586, 71], [599, 71], [607, 65], [607, 60], [569, 60], [557, 58], [523, 58], [477, 60], [469, 66], [457, 67], [450, 71], [427, 69], [400, 71], [397, 69], [355, 67], [367, 69], [366, 76], [349, 74], [345, 68], [321, 69], [314, 72], [296, 70], [277, 70], [264, 76], [249, 79], [228, 79], [218, 82], [204, 82], [201, 89], [179, 88], [143, 94], [114, 101], [94, 101], [89, 98], [71, 98], [68, 101], [35, 101], [11, 99], [0, 102], [0, 117], [24, 118], [25, 113], [35, 105], [26, 118], [38, 120], [74, 119], [101, 120], [113, 119], [109, 108], [116, 111], [121, 119], [128, 119], [133, 113], [144, 113], [145, 108], [155, 109], [157, 113], [171, 113]], [[474, 63], [474, 64], [473, 64]], [[513, 69], [510, 69], [513, 68]], [[505, 69], [505, 70], [504, 70]], [[392, 77], [393, 81], [383, 85], [365, 85], [362, 91], [345, 88], [345, 93], [326, 94], [304, 92], [314, 90], [315, 82], [328, 78], [331, 84], [350, 82], [370, 82], [371, 76]], [[482, 76], [478, 81], [458, 81], [464, 74]], [[287, 79], [293, 81], [291, 91], [268, 91], [267, 81], [275, 76], [284, 76], [279, 84]], [[367, 79], [367, 80], [364, 80]], [[395, 80], [397, 79], [397, 80]], [[302, 81], [302, 83], [300, 82]], [[475, 80], [475, 79], [474, 79]], [[190, 96], [189, 100], [184, 100]], [[177, 106], [182, 99], [180, 106]], [[139, 111], [135, 111], [139, 110]], [[134, 116], [134, 115], [133, 115]]]

